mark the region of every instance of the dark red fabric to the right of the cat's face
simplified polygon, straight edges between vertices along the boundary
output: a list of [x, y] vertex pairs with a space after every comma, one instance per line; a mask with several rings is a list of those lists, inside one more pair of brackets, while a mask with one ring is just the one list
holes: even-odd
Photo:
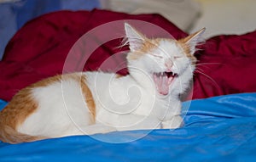
[[199, 53], [193, 98], [256, 92], [256, 31], [212, 37]]

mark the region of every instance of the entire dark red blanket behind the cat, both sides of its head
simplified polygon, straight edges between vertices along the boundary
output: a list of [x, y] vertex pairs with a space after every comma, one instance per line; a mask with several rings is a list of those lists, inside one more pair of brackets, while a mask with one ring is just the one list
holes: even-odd
[[[160, 26], [175, 38], [187, 36], [175, 25], [158, 14], [130, 15], [104, 10], [91, 12], [60, 11], [45, 14], [28, 22], [18, 31], [6, 47], [0, 62], [0, 98], [9, 101], [20, 88], [45, 77], [79, 70], [114, 70], [122, 62], [123, 54], [109, 59], [125, 48], [119, 47], [120, 38], [102, 43], [101, 47], [89, 49], [86, 61], [81, 60], [89, 51], [73, 52], [70, 49], [84, 33], [93, 31], [99, 25], [115, 20], [143, 20]], [[145, 26], [146, 28], [147, 26]], [[84, 42], [93, 47], [96, 42], [108, 36], [108, 29], [93, 32], [93, 41]], [[147, 31], [147, 30], [146, 30]], [[118, 33], [117, 34], [122, 34]], [[160, 36], [163, 32], [148, 30], [149, 36]], [[83, 42], [82, 42], [83, 43]], [[88, 44], [89, 43], [89, 44]], [[83, 44], [80, 44], [83, 45]], [[78, 49], [77, 46], [76, 49]], [[68, 54], [69, 53], [69, 54]], [[197, 53], [199, 59], [193, 88], [193, 98], [208, 98], [236, 92], [256, 92], [256, 31], [243, 36], [216, 36], [207, 40]], [[82, 57], [83, 56], [83, 57]], [[89, 57], [90, 56], [90, 57]], [[116, 54], [115, 54], [116, 56]], [[67, 62], [68, 58], [68, 62]], [[110, 64], [102, 67], [105, 60]], [[65, 62], [66, 61], [66, 62]], [[125, 74], [125, 70], [119, 73]]]

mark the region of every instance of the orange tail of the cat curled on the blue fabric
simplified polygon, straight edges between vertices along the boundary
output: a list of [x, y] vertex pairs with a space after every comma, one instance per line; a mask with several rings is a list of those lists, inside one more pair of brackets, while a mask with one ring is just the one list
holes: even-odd
[[12, 144], [20, 142], [33, 142], [44, 139], [44, 137], [33, 137], [16, 131], [11, 126], [3, 125], [0, 121], [0, 140]]

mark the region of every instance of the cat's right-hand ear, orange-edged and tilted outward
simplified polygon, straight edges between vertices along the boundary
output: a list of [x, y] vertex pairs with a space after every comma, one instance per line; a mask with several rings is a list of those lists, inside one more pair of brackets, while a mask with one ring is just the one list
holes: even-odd
[[180, 40], [187, 48], [189, 48], [189, 53], [193, 54], [196, 51], [196, 46], [204, 42], [203, 34], [206, 31], [206, 28], [202, 28], [200, 31], [196, 31], [194, 34], [191, 34]]

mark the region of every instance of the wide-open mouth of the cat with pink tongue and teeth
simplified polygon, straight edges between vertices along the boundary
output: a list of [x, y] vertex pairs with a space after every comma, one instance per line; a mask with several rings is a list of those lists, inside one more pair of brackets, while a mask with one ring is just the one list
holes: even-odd
[[173, 72], [153, 73], [154, 84], [157, 91], [162, 95], [167, 95], [169, 93], [169, 87], [175, 77], [177, 77], [177, 74]]

